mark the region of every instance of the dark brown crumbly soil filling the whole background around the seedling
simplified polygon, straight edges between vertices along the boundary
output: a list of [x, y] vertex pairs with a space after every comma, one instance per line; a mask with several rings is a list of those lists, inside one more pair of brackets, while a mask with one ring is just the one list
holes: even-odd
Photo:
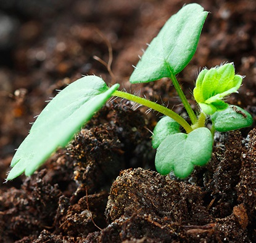
[[[82, 74], [186, 116], [168, 79], [133, 86], [128, 79], [141, 49], [190, 2], [1, 1], [0, 242], [256, 242], [255, 122], [216, 133], [209, 163], [178, 180], [155, 172], [150, 130], [161, 114], [112, 100], [34, 175], [4, 183], [44, 101]], [[192, 108], [199, 70], [234, 62], [246, 78], [228, 101], [255, 118], [256, 2], [195, 2], [210, 14], [178, 75]], [[111, 54], [114, 75], [94, 58], [109, 62]]]

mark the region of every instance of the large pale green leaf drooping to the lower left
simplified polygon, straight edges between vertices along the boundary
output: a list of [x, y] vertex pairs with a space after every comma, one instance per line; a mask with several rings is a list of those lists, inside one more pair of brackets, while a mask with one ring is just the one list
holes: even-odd
[[23, 172], [25, 175], [35, 172], [59, 146], [67, 145], [118, 87], [115, 84], [109, 89], [101, 78], [85, 76], [57, 94], [38, 116], [16, 151], [7, 180]]

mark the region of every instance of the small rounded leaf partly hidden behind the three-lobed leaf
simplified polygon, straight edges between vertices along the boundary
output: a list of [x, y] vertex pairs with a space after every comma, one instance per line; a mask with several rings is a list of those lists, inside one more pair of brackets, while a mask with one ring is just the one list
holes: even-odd
[[165, 116], [157, 122], [155, 129], [153, 131], [154, 135], [152, 136], [152, 147], [158, 148], [160, 143], [168, 137], [168, 135], [179, 133], [180, 124], [173, 120], [172, 118]]

